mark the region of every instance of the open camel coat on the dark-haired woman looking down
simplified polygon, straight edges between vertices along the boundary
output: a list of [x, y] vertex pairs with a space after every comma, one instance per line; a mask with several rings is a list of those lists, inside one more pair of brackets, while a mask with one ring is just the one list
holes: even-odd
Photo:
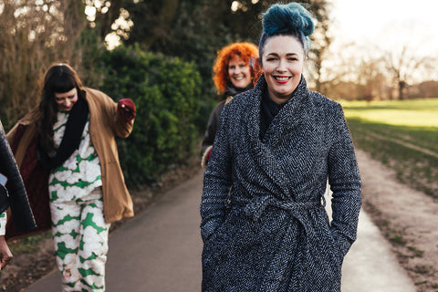
[[[89, 104], [89, 135], [98, 153], [101, 167], [103, 211], [105, 221], [113, 223], [123, 217], [134, 215], [130, 193], [125, 185], [120, 168], [116, 138], [127, 138], [134, 120], [124, 120], [118, 104], [97, 89], [83, 89]], [[7, 133], [16, 162], [22, 172], [26, 191], [36, 217], [38, 230], [50, 228], [48, 208], [48, 174], [36, 159], [37, 109], [18, 120]], [[8, 227], [12, 230], [8, 232]], [[13, 236], [14, 230], [8, 219], [6, 235]]]

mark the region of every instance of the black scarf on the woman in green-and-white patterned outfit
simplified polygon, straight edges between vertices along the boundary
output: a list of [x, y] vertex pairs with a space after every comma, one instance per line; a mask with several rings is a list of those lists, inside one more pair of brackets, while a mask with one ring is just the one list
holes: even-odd
[[79, 148], [79, 144], [84, 131], [85, 124], [89, 117], [89, 104], [85, 99], [78, 98], [73, 108], [71, 108], [66, 123], [66, 131], [62, 137], [57, 150], [49, 153], [44, 151], [41, 145], [38, 145], [38, 160], [46, 169], [56, 169], [68, 160], [68, 157]]

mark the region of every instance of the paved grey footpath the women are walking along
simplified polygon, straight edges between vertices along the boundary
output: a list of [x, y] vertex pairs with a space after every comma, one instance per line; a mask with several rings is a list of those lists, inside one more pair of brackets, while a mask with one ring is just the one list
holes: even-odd
[[[110, 234], [107, 292], [201, 290], [202, 183], [200, 172]], [[57, 271], [24, 291], [60, 291]], [[390, 245], [369, 216], [361, 212], [358, 240], [344, 261], [342, 292], [415, 291], [391, 254]]]

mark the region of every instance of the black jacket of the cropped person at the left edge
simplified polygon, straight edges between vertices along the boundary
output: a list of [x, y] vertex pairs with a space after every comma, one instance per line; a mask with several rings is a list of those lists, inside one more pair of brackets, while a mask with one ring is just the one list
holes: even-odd
[[25, 185], [16, 166], [14, 154], [6, 139], [5, 130], [0, 122], [0, 172], [7, 177], [5, 187], [0, 184], [0, 214], [10, 207], [16, 230], [31, 231], [36, 223], [29, 202]]

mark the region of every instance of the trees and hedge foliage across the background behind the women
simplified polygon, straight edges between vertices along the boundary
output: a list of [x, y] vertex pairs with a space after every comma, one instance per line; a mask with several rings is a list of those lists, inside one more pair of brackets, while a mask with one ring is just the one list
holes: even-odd
[[[127, 183], [153, 183], [198, 151], [218, 101], [212, 64], [221, 47], [258, 44], [271, 0], [4, 0], [0, 3], [0, 118], [5, 130], [39, 102], [45, 70], [68, 62], [84, 84], [138, 106], [134, 131], [119, 141]], [[342, 99], [436, 97], [436, 81], [412, 84], [409, 66], [384, 52], [358, 59], [344, 47], [330, 67], [328, 0], [300, 1], [316, 20], [308, 85]], [[403, 59], [406, 59], [404, 56]], [[405, 64], [406, 63], [406, 64]], [[426, 66], [424, 66], [426, 69]], [[409, 89], [409, 90], [408, 90]], [[128, 167], [129, 165], [129, 167]]]

